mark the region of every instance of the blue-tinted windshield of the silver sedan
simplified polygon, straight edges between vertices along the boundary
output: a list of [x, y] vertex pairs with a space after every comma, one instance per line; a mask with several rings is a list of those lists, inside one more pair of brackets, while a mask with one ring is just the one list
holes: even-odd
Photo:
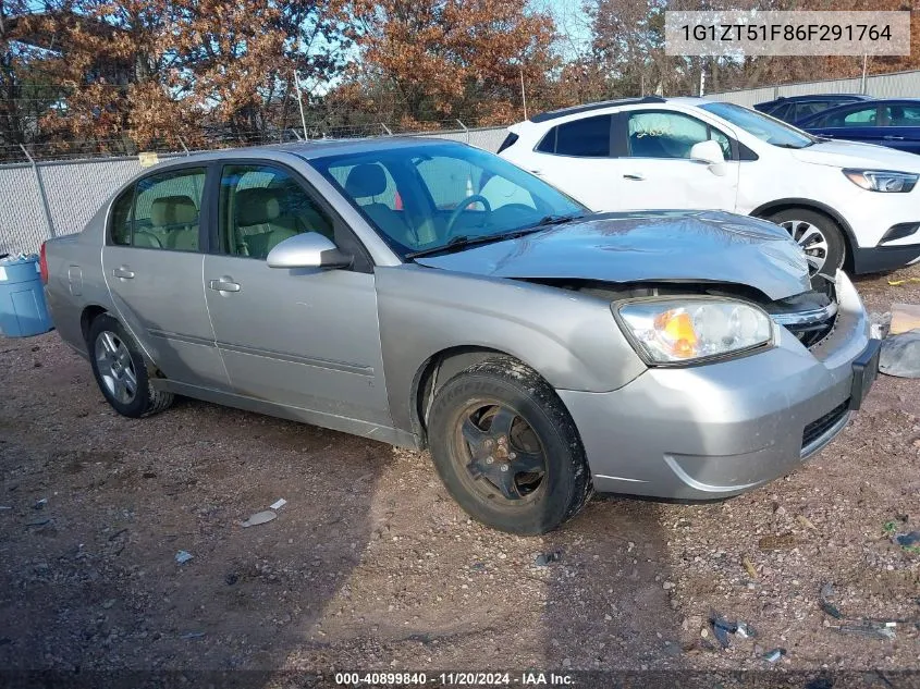
[[587, 212], [498, 156], [455, 143], [381, 142], [376, 150], [329, 156], [310, 164], [403, 258]]

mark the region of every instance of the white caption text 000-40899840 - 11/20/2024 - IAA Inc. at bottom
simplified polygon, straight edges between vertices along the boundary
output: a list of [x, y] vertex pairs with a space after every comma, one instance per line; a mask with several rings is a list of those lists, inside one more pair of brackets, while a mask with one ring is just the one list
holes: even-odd
[[566, 687], [575, 684], [567, 674], [525, 670], [519, 673], [335, 673], [344, 687]]

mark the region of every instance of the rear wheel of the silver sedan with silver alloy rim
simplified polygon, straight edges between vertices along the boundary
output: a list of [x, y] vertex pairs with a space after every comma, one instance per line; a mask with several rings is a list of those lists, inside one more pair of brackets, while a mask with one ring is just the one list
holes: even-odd
[[86, 340], [96, 383], [115, 411], [136, 419], [169, 408], [172, 393], [150, 386], [144, 356], [119, 321], [98, 316]]

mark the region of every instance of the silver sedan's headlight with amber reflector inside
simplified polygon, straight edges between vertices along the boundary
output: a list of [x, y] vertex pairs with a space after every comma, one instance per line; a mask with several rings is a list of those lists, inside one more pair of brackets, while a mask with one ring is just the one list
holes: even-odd
[[743, 302], [687, 297], [626, 302], [614, 308], [639, 354], [652, 364], [723, 356], [773, 339], [770, 317]]

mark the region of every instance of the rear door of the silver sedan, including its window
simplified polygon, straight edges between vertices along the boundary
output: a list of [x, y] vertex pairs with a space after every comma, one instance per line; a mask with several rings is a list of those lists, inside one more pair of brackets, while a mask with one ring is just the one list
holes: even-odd
[[140, 179], [115, 199], [102, 270], [120, 320], [167, 378], [228, 386], [201, 285], [204, 165]]

